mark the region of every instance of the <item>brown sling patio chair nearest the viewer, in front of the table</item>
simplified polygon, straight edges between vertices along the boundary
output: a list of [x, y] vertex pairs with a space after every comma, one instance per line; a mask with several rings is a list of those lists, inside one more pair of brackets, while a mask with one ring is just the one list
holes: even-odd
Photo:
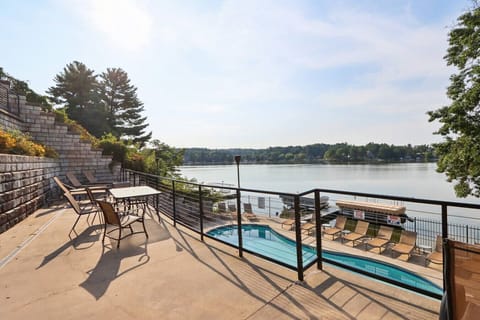
[[[105, 237], [109, 237], [112, 240], [117, 241], [117, 249], [120, 248], [120, 240], [131, 236], [135, 233], [145, 233], [145, 237], [148, 238], [148, 233], [147, 229], [145, 228], [145, 219], [143, 217], [137, 216], [137, 215], [132, 215], [132, 214], [126, 214], [123, 216], [120, 216], [115, 209], [113, 208], [113, 205], [110, 202], [106, 201], [97, 201], [98, 205], [100, 206], [102, 212], [103, 212], [103, 218], [104, 218], [104, 229], [103, 229], [103, 238], [102, 238], [102, 243], [105, 243]], [[134, 222], [141, 222], [143, 225], [143, 232], [134, 232], [132, 228], [132, 224]], [[114, 226], [114, 229], [107, 231], [108, 226]], [[122, 230], [123, 229], [130, 229], [130, 233], [122, 237]], [[113, 231], [118, 230], [118, 237], [112, 237], [109, 234]]]

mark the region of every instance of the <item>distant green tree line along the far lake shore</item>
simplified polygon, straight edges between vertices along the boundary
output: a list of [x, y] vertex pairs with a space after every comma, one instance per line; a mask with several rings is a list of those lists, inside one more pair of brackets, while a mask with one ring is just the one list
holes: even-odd
[[183, 163], [185, 165], [231, 164], [235, 155], [242, 157], [242, 163], [265, 164], [423, 162], [435, 159], [434, 148], [429, 145], [395, 146], [372, 142], [364, 146], [348, 143], [318, 143], [267, 149], [186, 148]]

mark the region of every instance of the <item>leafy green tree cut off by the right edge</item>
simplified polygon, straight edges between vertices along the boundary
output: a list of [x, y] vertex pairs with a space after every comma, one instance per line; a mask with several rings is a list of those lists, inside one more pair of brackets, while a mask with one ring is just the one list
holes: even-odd
[[450, 105], [428, 112], [429, 121], [439, 121], [435, 134], [444, 140], [435, 145], [438, 171], [454, 182], [458, 197], [480, 196], [480, 7], [457, 19], [449, 32], [444, 59], [457, 73], [450, 77]]

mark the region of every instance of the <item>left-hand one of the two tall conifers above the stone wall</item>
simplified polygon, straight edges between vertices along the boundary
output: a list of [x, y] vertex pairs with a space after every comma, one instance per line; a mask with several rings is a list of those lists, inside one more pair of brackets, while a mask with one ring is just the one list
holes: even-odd
[[92, 135], [109, 132], [105, 110], [98, 103], [97, 76], [79, 61], [73, 61], [57, 74], [47, 93], [57, 105], [63, 105], [68, 117], [77, 121]]

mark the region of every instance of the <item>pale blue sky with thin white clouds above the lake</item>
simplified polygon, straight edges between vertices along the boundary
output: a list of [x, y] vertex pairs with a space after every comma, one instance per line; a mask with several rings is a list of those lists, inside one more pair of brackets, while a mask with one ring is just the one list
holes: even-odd
[[38, 93], [125, 70], [174, 147], [430, 144], [468, 0], [0, 0], [0, 66]]

